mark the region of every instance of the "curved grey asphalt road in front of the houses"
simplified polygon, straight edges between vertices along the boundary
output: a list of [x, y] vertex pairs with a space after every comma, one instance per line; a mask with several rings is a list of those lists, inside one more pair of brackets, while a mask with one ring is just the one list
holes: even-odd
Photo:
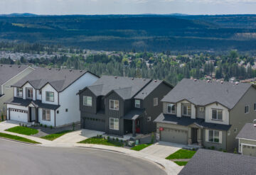
[[24, 145], [0, 139], [3, 175], [164, 175], [159, 166], [115, 152]]

